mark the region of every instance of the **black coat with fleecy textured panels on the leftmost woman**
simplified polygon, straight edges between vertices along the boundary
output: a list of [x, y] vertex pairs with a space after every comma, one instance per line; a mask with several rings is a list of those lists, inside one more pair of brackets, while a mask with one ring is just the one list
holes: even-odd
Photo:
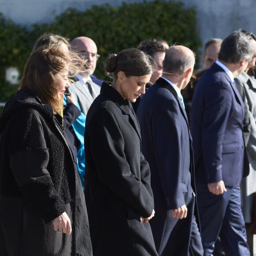
[[[1, 253], [92, 255], [83, 189], [61, 124], [52, 106], [30, 90], [20, 90], [5, 105], [0, 117]], [[53, 229], [52, 220], [64, 211], [72, 222], [69, 236]]]

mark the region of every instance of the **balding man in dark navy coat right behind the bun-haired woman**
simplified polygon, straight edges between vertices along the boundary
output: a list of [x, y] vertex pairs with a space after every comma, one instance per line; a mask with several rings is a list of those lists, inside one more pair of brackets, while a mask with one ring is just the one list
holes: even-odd
[[195, 64], [181, 45], [166, 50], [163, 75], [142, 97], [137, 117], [142, 152], [151, 169], [155, 218], [151, 229], [159, 256], [202, 256], [196, 222], [192, 139], [181, 89]]

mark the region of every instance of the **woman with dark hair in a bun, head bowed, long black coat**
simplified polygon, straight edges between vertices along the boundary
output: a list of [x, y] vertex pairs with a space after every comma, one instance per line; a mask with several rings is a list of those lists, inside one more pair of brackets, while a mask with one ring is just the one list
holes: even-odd
[[87, 113], [85, 195], [94, 256], [157, 256], [149, 220], [154, 217], [150, 169], [141, 153], [140, 128], [130, 102], [145, 93], [152, 74], [138, 49], [110, 55]]

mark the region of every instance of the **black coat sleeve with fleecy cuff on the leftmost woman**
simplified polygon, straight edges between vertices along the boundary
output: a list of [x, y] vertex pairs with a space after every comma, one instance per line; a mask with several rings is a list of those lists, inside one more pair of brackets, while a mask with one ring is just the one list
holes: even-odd
[[24, 125], [17, 117], [15, 131], [11, 132], [11, 170], [26, 201], [43, 220], [50, 222], [66, 211], [66, 207], [47, 170], [49, 149], [45, 143], [43, 120], [33, 110], [22, 118]]

